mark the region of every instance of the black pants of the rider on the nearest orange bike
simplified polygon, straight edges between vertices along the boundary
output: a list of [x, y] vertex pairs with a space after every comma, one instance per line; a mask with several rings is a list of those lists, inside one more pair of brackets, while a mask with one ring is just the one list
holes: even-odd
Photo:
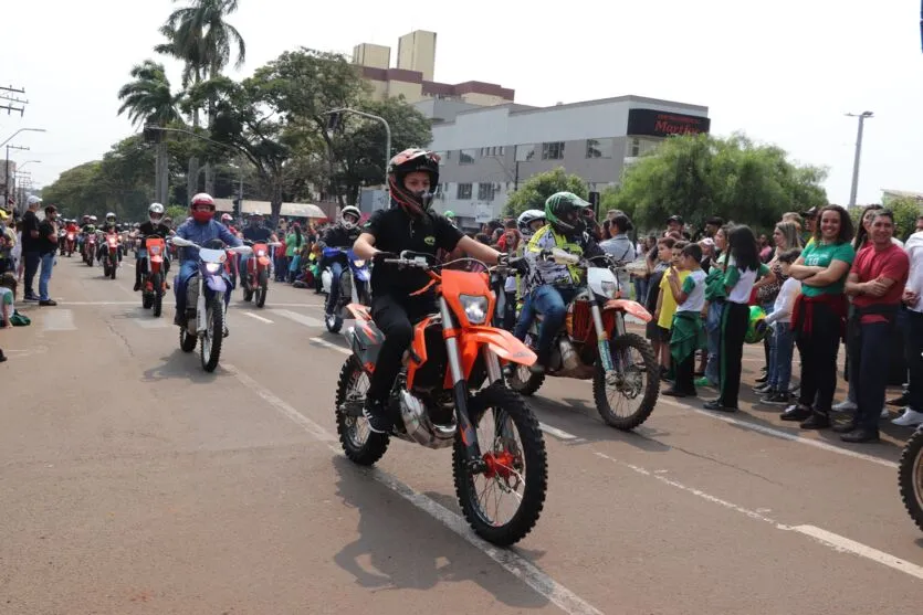
[[413, 338], [412, 322], [437, 311], [432, 295], [376, 295], [371, 300], [371, 317], [385, 333], [378, 351], [378, 362], [368, 386], [368, 399], [385, 402], [401, 368], [403, 351]]

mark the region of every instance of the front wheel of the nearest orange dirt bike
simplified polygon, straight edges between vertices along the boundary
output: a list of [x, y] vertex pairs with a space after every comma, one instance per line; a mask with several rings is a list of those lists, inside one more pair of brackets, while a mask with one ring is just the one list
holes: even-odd
[[[508, 427], [512, 423], [520, 436], [521, 445], [510, 442], [507, 436], [513, 434], [504, 434], [503, 437], [495, 434], [491, 442], [479, 436], [489, 469], [473, 474], [469, 468], [464, 444], [459, 434], [452, 449], [452, 475], [462, 512], [474, 532], [487, 542], [507, 547], [531, 532], [542, 515], [548, 489], [548, 458], [538, 421], [518, 393], [501, 383], [494, 383], [474, 394], [469, 404], [469, 412], [475, 428], [483, 426], [482, 418], [489, 409], [493, 410], [491, 415], [494, 428], [497, 424]], [[502, 445], [503, 450], [496, 452], [497, 445]], [[514, 486], [522, 485], [522, 496], [511, 496], [513, 501], [518, 501], [518, 507], [508, 521], [500, 523], [496, 519], [490, 518], [478, 495], [478, 478], [483, 478], [486, 483], [496, 480], [501, 491], [511, 490], [511, 481]], [[497, 502], [496, 509], [499, 508]]]

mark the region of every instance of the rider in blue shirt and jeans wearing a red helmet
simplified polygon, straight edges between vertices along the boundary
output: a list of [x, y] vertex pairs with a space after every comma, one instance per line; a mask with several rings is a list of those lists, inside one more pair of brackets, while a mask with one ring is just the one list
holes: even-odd
[[[204, 192], [192, 197], [192, 202], [189, 205], [191, 219], [183, 222], [179, 229], [176, 230], [176, 236], [188, 240], [198, 245], [204, 245], [212, 240], [221, 240], [227, 245], [237, 247], [241, 245], [238, 237], [231, 233], [227, 226], [214, 220], [214, 199]], [[191, 278], [199, 271], [199, 248], [183, 247], [180, 256], [179, 274], [176, 276], [174, 290], [176, 293], [176, 316], [174, 324], [180, 327], [186, 325], [186, 286]], [[224, 293], [224, 305], [227, 306], [231, 299], [230, 282], [228, 284], [228, 291]]]

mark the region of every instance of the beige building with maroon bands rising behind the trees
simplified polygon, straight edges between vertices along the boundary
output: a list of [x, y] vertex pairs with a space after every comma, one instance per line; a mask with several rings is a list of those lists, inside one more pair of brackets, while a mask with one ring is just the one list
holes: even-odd
[[397, 67], [390, 67], [391, 50], [361, 43], [353, 49], [353, 62], [363, 67], [371, 86], [371, 98], [382, 100], [403, 96], [408, 103], [427, 99], [459, 100], [491, 107], [512, 103], [515, 92], [497, 84], [469, 81], [448, 84], [433, 81], [436, 32], [416, 30], [398, 40]]

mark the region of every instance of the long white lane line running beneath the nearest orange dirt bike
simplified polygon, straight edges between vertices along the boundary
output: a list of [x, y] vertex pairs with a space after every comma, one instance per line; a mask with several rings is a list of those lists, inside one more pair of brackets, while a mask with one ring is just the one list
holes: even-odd
[[[324, 342], [322, 346], [329, 343], [326, 340], [319, 340], [319, 338], [312, 339]], [[347, 350], [347, 352], [349, 351]], [[335, 455], [339, 456], [343, 454], [338, 444], [333, 444], [334, 442], [337, 442], [337, 438], [324, 427], [275, 396], [270, 390], [263, 388], [259, 382], [239, 369], [227, 363], [224, 363], [223, 367], [228, 370], [228, 372], [233, 374], [240, 383], [253, 391], [253, 393], [281, 412], [285, 417], [301, 425], [305, 432], [311, 434], [316, 439], [327, 443], [327, 447]], [[375, 467], [364, 468], [359, 466], [356, 467], [356, 471], [367, 474], [376, 481], [380, 483], [395, 494], [416, 506], [418, 509], [441, 522], [453, 533], [484, 553], [487, 558], [500, 564], [500, 566], [506, 572], [532, 587], [536, 593], [547, 598], [568, 615], [602, 615], [601, 611], [552, 579], [548, 574], [541, 571], [535, 564], [517, 554], [515, 551], [497, 548], [481, 539], [459, 515], [455, 515], [432, 498], [416, 491], [412, 487], [400, 481], [391, 474]]]

